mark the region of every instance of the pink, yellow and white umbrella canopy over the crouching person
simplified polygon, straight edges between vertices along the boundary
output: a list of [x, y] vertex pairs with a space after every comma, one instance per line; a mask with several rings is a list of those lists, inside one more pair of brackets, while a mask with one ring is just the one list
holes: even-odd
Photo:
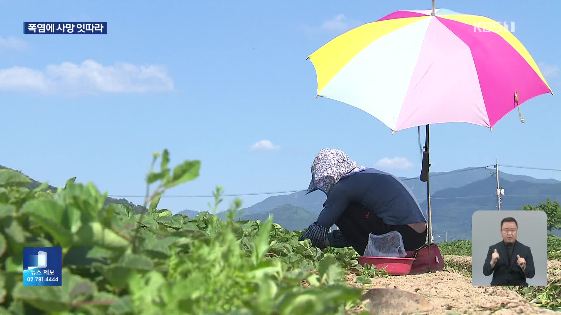
[[308, 58], [318, 96], [364, 110], [393, 131], [448, 122], [492, 128], [526, 100], [553, 94], [503, 25], [447, 9], [390, 13]]

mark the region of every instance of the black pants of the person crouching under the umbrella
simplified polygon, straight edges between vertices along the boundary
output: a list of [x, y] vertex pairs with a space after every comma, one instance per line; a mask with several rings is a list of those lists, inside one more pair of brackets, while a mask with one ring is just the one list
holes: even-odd
[[351, 243], [352, 248], [361, 256], [364, 255], [370, 233], [381, 235], [390, 231], [398, 231], [403, 239], [403, 247], [407, 252], [415, 251], [426, 242], [425, 230], [417, 233], [408, 225], [388, 225], [365, 207], [351, 203], [335, 223], [343, 236]]

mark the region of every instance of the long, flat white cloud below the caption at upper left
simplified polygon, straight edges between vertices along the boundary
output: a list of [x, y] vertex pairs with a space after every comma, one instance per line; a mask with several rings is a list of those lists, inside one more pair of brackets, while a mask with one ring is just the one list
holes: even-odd
[[27, 67], [0, 69], [0, 90], [43, 94], [147, 93], [173, 90], [164, 66], [116, 62], [104, 66], [93, 60], [80, 64], [50, 64], [45, 70]]

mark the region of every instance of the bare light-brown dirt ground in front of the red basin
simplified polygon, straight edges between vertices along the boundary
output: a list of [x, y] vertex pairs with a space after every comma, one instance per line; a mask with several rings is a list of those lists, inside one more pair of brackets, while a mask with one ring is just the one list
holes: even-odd
[[[453, 262], [454, 265], [459, 265], [463, 268], [471, 270], [471, 257], [447, 256], [444, 257], [445, 261]], [[561, 262], [549, 261], [548, 270], [550, 275], [555, 274], [559, 276], [561, 271]], [[395, 305], [388, 305], [385, 311], [388, 314], [544, 314], [555, 313], [539, 307], [536, 307], [527, 300], [522, 298], [517, 293], [501, 287], [491, 286], [472, 286], [471, 278], [467, 277], [457, 270], [445, 268], [444, 271], [435, 272], [432, 274], [409, 275], [409, 276], [388, 276], [372, 279], [371, 286], [362, 286], [356, 284], [356, 275], [347, 275], [348, 285], [357, 288], [371, 289], [371, 288], [395, 288], [399, 290], [406, 290], [416, 295], [411, 297], [402, 297], [402, 301], [406, 300], [419, 300], [413, 301], [415, 303], [407, 303], [413, 305], [412, 307], [404, 307], [403, 305], [397, 307]], [[381, 290], [380, 290], [381, 291]], [[426, 299], [426, 300], [425, 300]], [[395, 299], [393, 299], [395, 300]], [[388, 304], [384, 302], [376, 304]], [[373, 303], [365, 301], [361, 305], [361, 309], [367, 310], [366, 303]], [[428, 302], [428, 303], [427, 303]], [[426, 304], [424, 304], [426, 303]], [[427, 310], [429, 305], [430, 311]], [[355, 309], [353, 311], [358, 311]]]

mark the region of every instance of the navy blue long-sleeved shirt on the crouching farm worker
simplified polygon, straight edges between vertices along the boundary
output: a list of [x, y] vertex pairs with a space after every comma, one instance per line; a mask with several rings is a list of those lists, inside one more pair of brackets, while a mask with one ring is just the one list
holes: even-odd
[[426, 222], [411, 189], [392, 174], [374, 168], [341, 178], [324, 203], [317, 224], [330, 228], [349, 203], [359, 203], [388, 225]]

